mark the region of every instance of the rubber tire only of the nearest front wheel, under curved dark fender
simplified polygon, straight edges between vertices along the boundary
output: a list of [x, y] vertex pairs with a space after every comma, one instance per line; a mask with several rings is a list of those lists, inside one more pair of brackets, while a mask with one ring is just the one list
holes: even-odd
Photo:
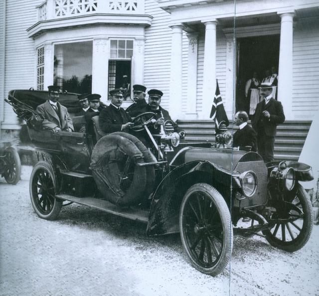
[[[204, 192], [206, 195], [208, 195], [213, 201], [213, 203], [216, 206], [217, 211], [219, 212], [220, 219], [222, 221], [222, 227], [224, 231], [224, 237], [223, 237], [223, 249], [221, 251], [221, 256], [213, 267], [211, 268], [205, 268], [201, 265], [199, 265], [192, 257], [192, 254], [189, 251], [189, 246], [187, 244], [187, 240], [184, 235], [184, 227], [183, 227], [183, 211], [185, 204], [188, 200], [188, 198], [196, 191]], [[190, 260], [191, 265], [200, 271], [201, 273], [211, 275], [211, 276], [217, 276], [220, 274], [223, 269], [228, 265], [231, 252], [233, 249], [233, 229], [231, 224], [231, 216], [228, 209], [228, 206], [222, 197], [222, 195], [211, 185], [206, 183], [196, 183], [192, 185], [185, 193], [181, 206], [180, 206], [180, 212], [179, 212], [179, 229], [180, 229], [180, 238], [182, 245], [184, 247], [184, 250], [187, 254], [188, 259]]]

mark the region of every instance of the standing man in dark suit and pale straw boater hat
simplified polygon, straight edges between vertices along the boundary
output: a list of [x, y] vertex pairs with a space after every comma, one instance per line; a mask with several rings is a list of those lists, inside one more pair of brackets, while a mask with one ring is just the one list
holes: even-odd
[[277, 125], [284, 123], [283, 106], [272, 97], [272, 84], [262, 83], [260, 94], [263, 100], [256, 106], [252, 127], [257, 132], [258, 153], [265, 162], [274, 160], [274, 143]]

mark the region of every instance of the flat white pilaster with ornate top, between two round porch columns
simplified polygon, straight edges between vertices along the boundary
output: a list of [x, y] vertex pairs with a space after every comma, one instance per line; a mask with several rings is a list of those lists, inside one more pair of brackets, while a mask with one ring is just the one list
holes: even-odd
[[187, 119], [197, 119], [197, 49], [198, 33], [188, 33]]

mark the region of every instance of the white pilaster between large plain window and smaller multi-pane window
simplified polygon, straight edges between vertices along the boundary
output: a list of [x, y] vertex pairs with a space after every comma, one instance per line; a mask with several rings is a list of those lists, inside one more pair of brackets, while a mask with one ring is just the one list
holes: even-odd
[[108, 38], [93, 39], [92, 94], [101, 95], [104, 103], [108, 100], [109, 56]]

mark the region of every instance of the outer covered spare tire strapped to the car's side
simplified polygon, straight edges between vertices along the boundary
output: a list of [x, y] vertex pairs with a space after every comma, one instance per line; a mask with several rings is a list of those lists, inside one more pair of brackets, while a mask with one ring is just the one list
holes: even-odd
[[128, 138], [110, 134], [101, 138], [91, 155], [94, 180], [109, 201], [128, 206], [141, 201], [146, 188], [143, 154]]

